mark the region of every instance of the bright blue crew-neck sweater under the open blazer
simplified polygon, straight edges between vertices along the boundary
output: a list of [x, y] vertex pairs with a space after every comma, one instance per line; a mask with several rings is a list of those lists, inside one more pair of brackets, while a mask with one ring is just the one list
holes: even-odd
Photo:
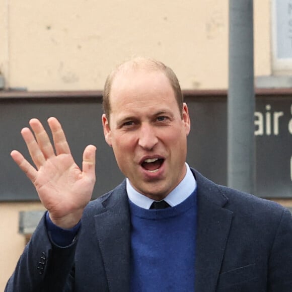
[[162, 210], [130, 202], [130, 212], [131, 292], [194, 291], [196, 191]]

